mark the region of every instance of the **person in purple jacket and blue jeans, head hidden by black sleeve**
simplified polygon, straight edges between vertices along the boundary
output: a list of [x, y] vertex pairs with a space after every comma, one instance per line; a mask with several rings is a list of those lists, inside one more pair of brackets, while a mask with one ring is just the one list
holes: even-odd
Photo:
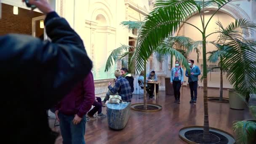
[[55, 115], [60, 122], [63, 144], [85, 144], [85, 114], [94, 99], [93, 74], [90, 72], [57, 105]]

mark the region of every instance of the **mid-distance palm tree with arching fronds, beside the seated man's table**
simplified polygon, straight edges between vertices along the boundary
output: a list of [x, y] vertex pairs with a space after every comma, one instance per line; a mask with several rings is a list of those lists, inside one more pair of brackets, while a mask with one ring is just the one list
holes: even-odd
[[[123, 21], [121, 24], [129, 30], [137, 29], [138, 35], [140, 35], [141, 26], [144, 24], [144, 22]], [[169, 55], [175, 56], [176, 59], [181, 61], [182, 65], [188, 67], [186, 62], [187, 55], [192, 51], [196, 51], [198, 54], [200, 54], [200, 51], [197, 49], [197, 45], [199, 43], [200, 42], [194, 42], [190, 38], [184, 36], [168, 37], [163, 43], [158, 45], [158, 47], [155, 49], [155, 51], [152, 51], [152, 53], [157, 53], [159, 56], [165, 57], [168, 57]], [[180, 48], [183, 48], [184, 50], [181, 50]], [[139, 53], [136, 48], [129, 45], [121, 45], [119, 48], [113, 50], [109, 55], [106, 62], [105, 72], [109, 71], [111, 67], [117, 63], [117, 61], [121, 61], [122, 67], [128, 68], [131, 73], [134, 74], [138, 68], [140, 70], [138, 70], [137, 73], [144, 70], [144, 73], [146, 74], [147, 59], [142, 60], [142, 68], [138, 67], [139, 65], [136, 64], [138, 57], [142, 56], [143, 54]], [[146, 75], [144, 75], [144, 85], [146, 85]], [[144, 87], [144, 109], [147, 109], [146, 93], [146, 87]]]

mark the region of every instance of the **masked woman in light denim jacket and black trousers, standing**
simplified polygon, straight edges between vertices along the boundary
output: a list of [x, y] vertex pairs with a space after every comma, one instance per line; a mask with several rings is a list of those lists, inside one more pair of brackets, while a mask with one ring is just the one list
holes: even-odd
[[179, 61], [175, 61], [175, 67], [171, 69], [171, 84], [173, 85], [175, 103], [180, 103], [180, 88], [183, 84], [183, 69], [179, 65]]

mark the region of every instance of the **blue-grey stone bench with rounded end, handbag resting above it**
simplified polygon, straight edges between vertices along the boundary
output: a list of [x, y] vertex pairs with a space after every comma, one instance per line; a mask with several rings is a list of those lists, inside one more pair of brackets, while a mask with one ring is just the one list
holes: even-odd
[[107, 122], [110, 128], [125, 128], [131, 115], [131, 103], [107, 104]]

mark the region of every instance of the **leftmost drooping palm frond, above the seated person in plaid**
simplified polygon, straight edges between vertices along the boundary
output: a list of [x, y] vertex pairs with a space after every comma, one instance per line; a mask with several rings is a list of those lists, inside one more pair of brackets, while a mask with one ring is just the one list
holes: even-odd
[[128, 52], [131, 46], [129, 45], [121, 45], [121, 47], [116, 48], [113, 50], [106, 62], [105, 72], [109, 71], [110, 68], [117, 63], [117, 61], [120, 60], [120, 57], [122, 56], [123, 52]]

